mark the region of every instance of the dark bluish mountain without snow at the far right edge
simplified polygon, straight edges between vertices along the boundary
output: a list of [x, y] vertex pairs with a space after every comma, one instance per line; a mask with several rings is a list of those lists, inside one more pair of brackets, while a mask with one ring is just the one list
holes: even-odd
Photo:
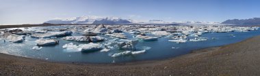
[[259, 25], [260, 18], [249, 18], [249, 19], [233, 19], [233, 20], [226, 20], [222, 22], [222, 24], [235, 24], [235, 25]]

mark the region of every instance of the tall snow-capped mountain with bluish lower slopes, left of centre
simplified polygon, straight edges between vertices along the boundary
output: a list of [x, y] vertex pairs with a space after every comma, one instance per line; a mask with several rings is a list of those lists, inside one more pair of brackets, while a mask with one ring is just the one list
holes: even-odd
[[118, 17], [99, 17], [99, 16], [81, 16], [74, 18], [64, 18], [49, 20], [44, 23], [51, 24], [129, 24], [131, 20]]

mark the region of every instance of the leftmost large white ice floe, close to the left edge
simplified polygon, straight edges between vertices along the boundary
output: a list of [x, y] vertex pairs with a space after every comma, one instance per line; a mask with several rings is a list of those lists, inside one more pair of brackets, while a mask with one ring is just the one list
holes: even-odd
[[5, 39], [7, 39], [8, 41], [11, 41], [13, 43], [21, 43], [25, 39], [25, 36], [10, 34]]

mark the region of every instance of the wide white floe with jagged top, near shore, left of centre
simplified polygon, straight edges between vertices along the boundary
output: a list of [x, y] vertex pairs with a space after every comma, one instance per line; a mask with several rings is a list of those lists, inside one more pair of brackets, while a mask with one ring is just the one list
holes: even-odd
[[68, 43], [62, 46], [66, 50], [72, 50], [73, 52], [92, 52], [102, 50], [103, 48], [99, 43], [88, 43], [88, 44], [79, 44], [74, 45], [73, 43]]

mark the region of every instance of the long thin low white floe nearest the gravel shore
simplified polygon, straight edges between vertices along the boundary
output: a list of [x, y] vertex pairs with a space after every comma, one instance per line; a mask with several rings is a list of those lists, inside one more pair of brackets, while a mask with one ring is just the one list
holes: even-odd
[[142, 54], [144, 52], [146, 52], [146, 50], [134, 51], [134, 52], [125, 51], [125, 52], [119, 52], [119, 53], [113, 54], [112, 57], [118, 57], [118, 56], [130, 55], [130, 54]]

